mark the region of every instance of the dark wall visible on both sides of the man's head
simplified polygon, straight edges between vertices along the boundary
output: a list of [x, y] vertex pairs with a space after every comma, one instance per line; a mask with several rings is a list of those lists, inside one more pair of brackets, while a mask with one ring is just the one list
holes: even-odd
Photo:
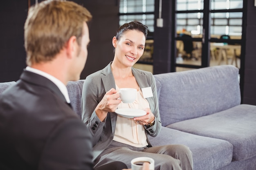
[[[41, 2], [42, 0], [38, 0]], [[81, 73], [84, 79], [112, 61], [112, 38], [119, 27], [117, 0], [73, 0], [86, 7], [93, 15], [89, 23], [90, 45], [88, 60]], [[31, 0], [34, 4], [35, 0]], [[0, 82], [17, 81], [26, 67], [24, 24], [28, 0], [6, 0], [0, 5]]]

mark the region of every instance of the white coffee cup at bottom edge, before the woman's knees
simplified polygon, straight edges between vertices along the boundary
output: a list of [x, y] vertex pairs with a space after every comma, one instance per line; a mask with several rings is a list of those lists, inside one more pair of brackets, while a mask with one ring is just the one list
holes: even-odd
[[142, 170], [144, 162], [149, 163], [149, 170], [155, 170], [155, 161], [150, 157], [137, 157], [132, 159], [132, 170]]

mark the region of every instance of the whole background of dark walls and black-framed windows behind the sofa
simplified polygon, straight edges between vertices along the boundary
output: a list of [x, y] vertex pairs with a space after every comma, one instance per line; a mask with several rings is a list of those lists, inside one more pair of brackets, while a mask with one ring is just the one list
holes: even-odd
[[[0, 2], [0, 82], [17, 81], [25, 68], [23, 26], [29, 7], [41, 1]], [[72, 1], [93, 15], [81, 79], [112, 61], [119, 25], [138, 20], [149, 34], [136, 68], [159, 74], [232, 64], [240, 69], [242, 103], [256, 105], [254, 0]]]

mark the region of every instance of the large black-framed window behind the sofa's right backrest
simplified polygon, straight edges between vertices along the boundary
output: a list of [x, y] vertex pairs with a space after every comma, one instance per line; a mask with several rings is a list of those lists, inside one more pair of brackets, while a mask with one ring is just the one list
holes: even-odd
[[[242, 37], [243, 0], [176, 0], [176, 2], [176, 11], [174, 11], [176, 15], [176, 35], [174, 36], [177, 51], [173, 52], [175, 54], [173, 56], [176, 57], [176, 65], [173, 64], [176, 66], [176, 71], [184, 71], [178, 66], [193, 69], [196, 66], [201, 66], [201, 64], [202, 66], [233, 64], [239, 68], [240, 42], [235, 40], [240, 40]], [[204, 2], [209, 2], [209, 4], [204, 4]], [[203, 10], [204, 5], [209, 5], [209, 7], [206, 7], [210, 10], [209, 20], [208, 18], [203, 18], [204, 12], [208, 11]], [[203, 38], [203, 21], [206, 22], [204, 23], [204, 32], [207, 36], [208, 22], [210, 24], [209, 49], [207, 47], [208, 44], [204, 46], [201, 42], [205, 40], [201, 40]], [[186, 37], [183, 37], [184, 35]], [[217, 39], [229, 40], [219, 41]], [[189, 40], [193, 42], [193, 46], [191, 42], [187, 43]], [[186, 43], [183, 41], [186, 41]], [[193, 53], [187, 53], [186, 44], [190, 44], [190, 47], [193, 47], [190, 48], [193, 49]], [[203, 51], [202, 46], [206, 48]]]

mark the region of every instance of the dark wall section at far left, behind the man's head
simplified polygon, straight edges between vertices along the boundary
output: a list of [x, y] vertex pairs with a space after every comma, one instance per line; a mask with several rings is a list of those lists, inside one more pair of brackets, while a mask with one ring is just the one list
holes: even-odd
[[17, 81], [25, 68], [23, 26], [27, 0], [6, 0], [0, 5], [0, 82]]

